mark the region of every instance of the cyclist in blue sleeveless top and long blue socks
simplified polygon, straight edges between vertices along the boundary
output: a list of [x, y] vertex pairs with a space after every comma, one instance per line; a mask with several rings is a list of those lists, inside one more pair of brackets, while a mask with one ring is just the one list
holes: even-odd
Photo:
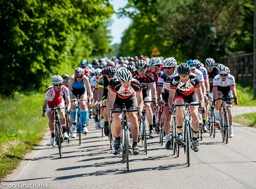
[[[91, 86], [89, 83], [89, 79], [87, 76], [83, 74], [82, 68], [76, 68], [75, 73], [70, 78], [69, 85], [68, 85], [70, 96], [71, 98], [77, 98], [79, 95], [80, 99], [87, 99], [87, 91], [88, 91], [88, 98], [89, 103], [91, 103]], [[72, 129], [73, 133], [76, 132], [76, 122], [75, 122], [75, 116], [76, 116], [76, 106], [77, 102], [74, 101], [71, 105], [71, 115], [72, 115]], [[88, 121], [88, 108], [87, 103], [85, 101], [81, 101], [81, 109], [82, 109], [82, 132], [84, 134], [88, 133], [87, 129], [87, 121]]]

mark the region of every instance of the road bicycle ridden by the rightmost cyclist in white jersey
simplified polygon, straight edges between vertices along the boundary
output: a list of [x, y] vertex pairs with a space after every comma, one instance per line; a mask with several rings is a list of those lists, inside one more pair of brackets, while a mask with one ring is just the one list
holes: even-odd
[[[223, 96], [222, 98], [215, 98], [214, 100], [222, 100], [222, 103], [220, 105], [220, 132], [222, 136], [222, 142], [226, 142], [228, 144], [229, 140], [229, 116], [228, 116], [228, 110], [227, 110], [227, 101], [231, 99], [237, 99], [237, 98], [230, 98], [228, 96]], [[222, 110], [221, 110], [222, 109]]]

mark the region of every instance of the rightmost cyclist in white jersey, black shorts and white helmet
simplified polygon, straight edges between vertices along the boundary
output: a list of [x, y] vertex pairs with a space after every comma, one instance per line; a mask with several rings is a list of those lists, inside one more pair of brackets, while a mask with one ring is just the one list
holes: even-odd
[[[222, 97], [232, 97], [231, 92], [233, 96], [236, 98], [234, 103], [238, 105], [238, 100], [237, 100], [237, 91], [236, 91], [236, 82], [235, 82], [235, 77], [231, 76], [230, 70], [228, 67], [222, 66], [219, 69], [219, 75], [215, 76], [213, 79], [213, 98], [222, 98]], [[216, 100], [213, 101], [213, 105], [215, 105], [216, 108], [216, 114], [215, 118], [216, 121], [220, 120], [220, 115], [219, 115], [219, 108], [221, 104], [221, 100]], [[229, 100], [227, 101], [227, 110], [228, 110], [228, 117], [229, 117], [229, 137], [234, 137], [234, 130], [232, 127], [232, 112], [231, 112], [231, 106], [232, 106], [232, 101]]]

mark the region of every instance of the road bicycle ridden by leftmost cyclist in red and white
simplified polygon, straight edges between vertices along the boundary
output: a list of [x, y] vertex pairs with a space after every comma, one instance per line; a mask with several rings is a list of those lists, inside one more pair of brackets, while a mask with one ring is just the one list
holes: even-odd
[[61, 143], [63, 142], [63, 133], [62, 127], [59, 119], [58, 110], [66, 109], [66, 107], [54, 107], [54, 108], [46, 108], [45, 111], [54, 111], [54, 123], [55, 123], [55, 142], [59, 148], [59, 155], [62, 157], [62, 147]]

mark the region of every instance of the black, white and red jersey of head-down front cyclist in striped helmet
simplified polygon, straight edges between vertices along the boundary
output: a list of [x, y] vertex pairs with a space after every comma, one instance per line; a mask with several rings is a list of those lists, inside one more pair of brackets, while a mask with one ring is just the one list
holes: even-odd
[[111, 91], [117, 94], [117, 98], [121, 99], [128, 99], [129, 97], [135, 96], [135, 93], [141, 90], [140, 83], [134, 78], [131, 79], [128, 89], [124, 88], [118, 79], [116, 79], [111, 86]]

